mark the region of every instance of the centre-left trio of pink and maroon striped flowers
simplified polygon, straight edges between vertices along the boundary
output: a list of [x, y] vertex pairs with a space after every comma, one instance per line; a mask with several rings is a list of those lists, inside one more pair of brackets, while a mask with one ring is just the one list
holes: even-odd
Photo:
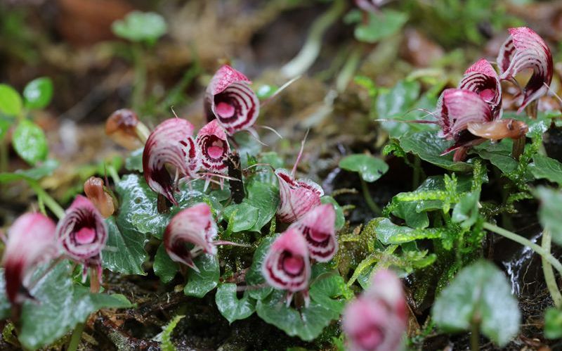
[[[143, 151], [143, 173], [152, 191], [178, 205], [174, 193], [181, 179], [221, 179], [227, 172], [230, 153], [227, 134], [247, 130], [259, 114], [259, 100], [249, 87], [249, 79], [223, 65], [207, 87], [205, 110], [209, 123], [193, 137], [194, 127], [187, 120], [171, 118], [150, 133]], [[170, 174], [166, 165], [175, 168]]]

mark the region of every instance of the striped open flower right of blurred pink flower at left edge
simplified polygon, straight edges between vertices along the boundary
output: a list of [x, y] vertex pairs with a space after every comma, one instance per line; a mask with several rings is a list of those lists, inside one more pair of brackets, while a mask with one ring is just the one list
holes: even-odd
[[101, 282], [101, 251], [107, 242], [107, 226], [100, 211], [88, 198], [77, 196], [58, 222], [56, 237], [65, 255], [84, 265], [84, 279], [86, 269], [95, 269], [92, 272], [97, 281], [91, 279], [91, 287], [96, 291]]

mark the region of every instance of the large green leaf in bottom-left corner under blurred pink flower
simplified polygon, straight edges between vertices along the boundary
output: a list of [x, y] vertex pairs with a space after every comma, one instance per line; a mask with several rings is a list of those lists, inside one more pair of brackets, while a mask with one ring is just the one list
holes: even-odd
[[[34, 275], [35, 279], [41, 271]], [[55, 342], [100, 308], [132, 307], [123, 295], [92, 294], [89, 288], [75, 286], [68, 262], [55, 266], [31, 293], [39, 303], [24, 302], [18, 336], [20, 343], [30, 350]]]

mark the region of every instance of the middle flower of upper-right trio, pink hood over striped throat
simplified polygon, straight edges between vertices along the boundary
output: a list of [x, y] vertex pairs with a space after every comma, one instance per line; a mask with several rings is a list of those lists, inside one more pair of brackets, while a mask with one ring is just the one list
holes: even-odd
[[502, 113], [502, 85], [492, 65], [481, 58], [471, 65], [459, 82], [459, 89], [473, 91], [490, 105], [492, 116], [496, 119]]

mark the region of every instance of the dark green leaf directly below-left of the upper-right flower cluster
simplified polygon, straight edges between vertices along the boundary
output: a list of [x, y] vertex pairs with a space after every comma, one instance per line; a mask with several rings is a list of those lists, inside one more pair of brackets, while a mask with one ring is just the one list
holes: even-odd
[[406, 134], [399, 139], [400, 146], [407, 153], [414, 153], [421, 160], [433, 163], [445, 170], [456, 172], [469, 172], [472, 165], [466, 162], [454, 162], [452, 155], [440, 156], [445, 149], [450, 147], [450, 141], [437, 136], [436, 132], [426, 131], [413, 134]]

